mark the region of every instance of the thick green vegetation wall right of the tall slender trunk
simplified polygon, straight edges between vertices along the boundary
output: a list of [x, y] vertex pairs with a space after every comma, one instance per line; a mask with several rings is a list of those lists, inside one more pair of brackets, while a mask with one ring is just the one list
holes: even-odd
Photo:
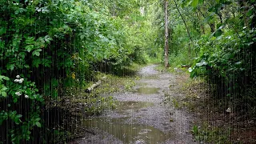
[[254, 3], [254, 0], [170, 3], [170, 65], [191, 66], [191, 78], [206, 78], [214, 95], [226, 99], [234, 110], [255, 108]]

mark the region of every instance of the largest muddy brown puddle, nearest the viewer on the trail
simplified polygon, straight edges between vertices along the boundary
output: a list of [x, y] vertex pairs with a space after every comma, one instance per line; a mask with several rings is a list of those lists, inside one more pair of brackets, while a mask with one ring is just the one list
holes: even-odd
[[160, 143], [168, 138], [173, 138], [172, 134], [165, 134], [153, 126], [138, 124], [124, 124], [127, 118], [93, 118], [83, 121], [83, 126], [98, 127], [122, 142], [130, 143]]

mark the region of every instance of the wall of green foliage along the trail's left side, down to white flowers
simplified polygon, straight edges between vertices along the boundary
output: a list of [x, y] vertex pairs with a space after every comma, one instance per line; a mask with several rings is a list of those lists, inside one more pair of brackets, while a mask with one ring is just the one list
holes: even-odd
[[[143, 41], [144, 32], [138, 34], [140, 26], [149, 32], [139, 13], [142, 3], [116, 2], [0, 0], [0, 126], [9, 130], [6, 143], [36, 137], [31, 131], [43, 127], [44, 98], [82, 87], [98, 64], [121, 70], [146, 62], [140, 54], [150, 34]], [[22, 78], [14, 80], [16, 75]]]

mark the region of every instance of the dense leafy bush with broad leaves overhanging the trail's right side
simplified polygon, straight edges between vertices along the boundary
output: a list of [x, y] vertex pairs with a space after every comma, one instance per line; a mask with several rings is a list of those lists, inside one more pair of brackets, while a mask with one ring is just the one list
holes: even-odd
[[226, 31], [218, 38], [202, 38], [198, 41], [200, 56], [190, 69], [191, 77], [205, 75], [218, 86], [219, 94], [244, 94], [246, 88], [255, 85], [255, 34], [254, 30], [242, 30], [239, 34]]

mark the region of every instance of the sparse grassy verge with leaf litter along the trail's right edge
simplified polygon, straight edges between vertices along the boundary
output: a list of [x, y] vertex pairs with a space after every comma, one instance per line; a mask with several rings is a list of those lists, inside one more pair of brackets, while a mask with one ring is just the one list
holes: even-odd
[[191, 79], [186, 72], [174, 73], [177, 83], [170, 86], [173, 94], [165, 94], [165, 102], [169, 102], [175, 109], [188, 110], [194, 114], [194, 126], [191, 133], [194, 139], [202, 143], [231, 143], [230, 127], [216, 124], [218, 111], [213, 99], [210, 98], [209, 85], [203, 78]]

